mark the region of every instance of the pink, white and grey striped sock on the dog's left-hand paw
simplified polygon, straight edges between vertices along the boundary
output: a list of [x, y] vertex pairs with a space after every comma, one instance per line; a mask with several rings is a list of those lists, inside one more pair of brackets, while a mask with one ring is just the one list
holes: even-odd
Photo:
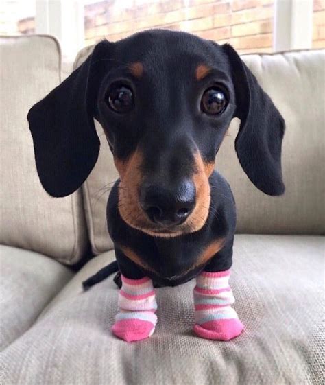
[[112, 332], [122, 340], [143, 340], [154, 333], [157, 323], [156, 296], [148, 277], [130, 279], [121, 275], [119, 313], [115, 316]]

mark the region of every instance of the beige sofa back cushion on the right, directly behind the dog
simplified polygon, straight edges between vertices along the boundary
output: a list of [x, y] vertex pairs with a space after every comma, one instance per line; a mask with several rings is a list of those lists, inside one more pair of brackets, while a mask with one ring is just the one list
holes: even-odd
[[[79, 66], [91, 47], [77, 56]], [[283, 143], [285, 196], [269, 197], [256, 189], [241, 170], [234, 152], [238, 120], [234, 119], [217, 156], [237, 202], [239, 233], [321, 234], [325, 231], [324, 75], [323, 51], [243, 56], [285, 117]], [[94, 253], [112, 248], [106, 230], [106, 202], [117, 172], [104, 132], [99, 160], [84, 183], [85, 209]]]

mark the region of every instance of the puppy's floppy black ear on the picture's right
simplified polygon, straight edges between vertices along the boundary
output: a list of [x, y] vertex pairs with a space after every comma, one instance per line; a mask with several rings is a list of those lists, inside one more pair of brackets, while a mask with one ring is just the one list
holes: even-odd
[[241, 119], [235, 141], [241, 167], [265, 194], [281, 195], [285, 191], [281, 170], [285, 121], [237, 52], [228, 44], [222, 48], [232, 70], [235, 116]]

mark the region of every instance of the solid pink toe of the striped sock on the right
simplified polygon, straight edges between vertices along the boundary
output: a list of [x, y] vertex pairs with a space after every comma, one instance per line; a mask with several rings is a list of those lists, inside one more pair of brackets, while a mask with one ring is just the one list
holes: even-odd
[[210, 320], [202, 325], [195, 325], [195, 334], [207, 340], [229, 341], [241, 334], [244, 326], [238, 318]]

